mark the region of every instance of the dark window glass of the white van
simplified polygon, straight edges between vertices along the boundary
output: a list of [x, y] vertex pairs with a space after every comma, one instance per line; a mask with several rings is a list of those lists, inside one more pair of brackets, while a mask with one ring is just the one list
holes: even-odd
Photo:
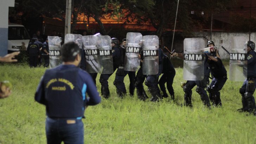
[[8, 40], [24, 40], [30, 39], [25, 27], [22, 26], [9, 26], [8, 27]]

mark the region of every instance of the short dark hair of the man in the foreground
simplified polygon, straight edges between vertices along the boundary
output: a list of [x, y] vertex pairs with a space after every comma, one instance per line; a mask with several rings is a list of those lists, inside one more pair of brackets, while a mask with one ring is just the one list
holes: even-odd
[[75, 61], [77, 54], [81, 56], [81, 49], [75, 42], [68, 42], [60, 48], [60, 55], [64, 62]]

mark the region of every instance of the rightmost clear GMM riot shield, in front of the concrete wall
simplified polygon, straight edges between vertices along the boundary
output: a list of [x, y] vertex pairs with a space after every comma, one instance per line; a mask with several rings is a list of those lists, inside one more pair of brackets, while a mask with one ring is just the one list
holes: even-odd
[[247, 45], [245, 37], [231, 38], [229, 80], [244, 81], [247, 78]]

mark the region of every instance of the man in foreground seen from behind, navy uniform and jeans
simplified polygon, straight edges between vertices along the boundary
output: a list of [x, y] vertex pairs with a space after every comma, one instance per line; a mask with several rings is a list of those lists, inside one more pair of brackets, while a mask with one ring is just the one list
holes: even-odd
[[85, 108], [100, 103], [101, 97], [90, 74], [77, 67], [81, 61], [79, 46], [68, 42], [60, 52], [63, 64], [46, 70], [37, 87], [35, 100], [46, 106], [48, 144], [60, 144], [62, 141], [83, 144], [81, 119]]

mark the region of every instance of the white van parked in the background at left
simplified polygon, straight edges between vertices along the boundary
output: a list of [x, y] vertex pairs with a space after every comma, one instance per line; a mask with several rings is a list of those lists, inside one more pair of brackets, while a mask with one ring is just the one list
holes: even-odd
[[26, 51], [30, 36], [23, 25], [8, 24], [8, 53]]

